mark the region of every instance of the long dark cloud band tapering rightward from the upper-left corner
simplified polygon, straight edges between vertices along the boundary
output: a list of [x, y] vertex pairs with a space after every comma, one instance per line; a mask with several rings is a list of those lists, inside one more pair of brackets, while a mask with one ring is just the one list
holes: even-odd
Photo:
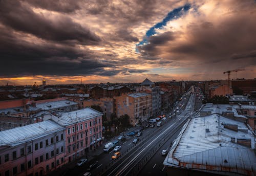
[[100, 38], [89, 29], [75, 23], [68, 16], [59, 15], [50, 19], [18, 1], [0, 2], [0, 22], [17, 31], [33, 34], [53, 41], [68, 41], [82, 45], [97, 45]]

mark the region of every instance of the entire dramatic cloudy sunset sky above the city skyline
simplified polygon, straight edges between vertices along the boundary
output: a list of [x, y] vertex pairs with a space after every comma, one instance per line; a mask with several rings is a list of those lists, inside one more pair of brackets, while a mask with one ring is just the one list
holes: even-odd
[[0, 80], [252, 79], [256, 2], [0, 1]]

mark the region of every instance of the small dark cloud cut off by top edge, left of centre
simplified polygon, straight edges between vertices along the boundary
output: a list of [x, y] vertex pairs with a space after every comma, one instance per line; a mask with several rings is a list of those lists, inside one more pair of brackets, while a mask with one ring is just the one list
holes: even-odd
[[26, 0], [26, 2], [34, 7], [56, 12], [71, 13], [81, 9], [81, 7], [79, 6], [80, 1], [78, 0]]

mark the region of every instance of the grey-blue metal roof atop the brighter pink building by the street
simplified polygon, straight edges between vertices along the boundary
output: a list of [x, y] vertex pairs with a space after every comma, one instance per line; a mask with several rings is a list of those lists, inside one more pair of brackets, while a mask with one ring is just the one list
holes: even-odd
[[86, 107], [77, 111], [72, 111], [69, 113], [63, 113], [60, 116], [53, 116], [52, 120], [56, 123], [66, 126], [74, 123], [82, 122], [85, 120], [89, 120], [98, 116], [103, 115], [102, 113], [96, 111], [91, 107]]

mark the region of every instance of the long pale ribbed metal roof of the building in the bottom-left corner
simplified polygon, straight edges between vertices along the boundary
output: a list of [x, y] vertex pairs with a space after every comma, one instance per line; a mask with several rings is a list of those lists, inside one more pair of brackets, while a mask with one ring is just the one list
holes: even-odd
[[16, 127], [4, 131], [0, 131], [0, 146], [15, 146], [20, 143], [30, 141], [32, 139], [46, 136], [49, 133], [64, 129], [52, 120], [39, 123], [33, 123], [26, 126]]

